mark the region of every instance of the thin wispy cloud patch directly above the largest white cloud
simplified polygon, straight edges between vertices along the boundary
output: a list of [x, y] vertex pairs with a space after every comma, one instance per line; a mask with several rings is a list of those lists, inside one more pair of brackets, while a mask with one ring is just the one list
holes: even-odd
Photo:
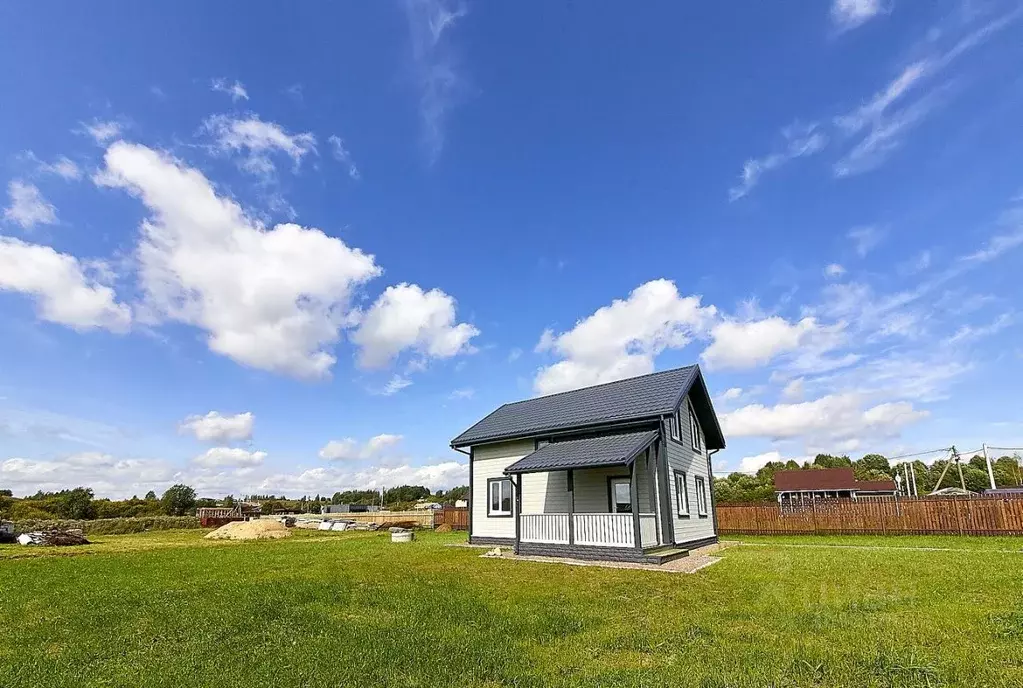
[[257, 116], [235, 119], [214, 114], [206, 121], [204, 129], [216, 140], [215, 148], [221, 153], [243, 153], [239, 167], [255, 175], [272, 175], [276, 168], [271, 153], [283, 153], [292, 158], [295, 170], [302, 158], [316, 153], [316, 137], [310, 133], [288, 134], [274, 122], [263, 122]]

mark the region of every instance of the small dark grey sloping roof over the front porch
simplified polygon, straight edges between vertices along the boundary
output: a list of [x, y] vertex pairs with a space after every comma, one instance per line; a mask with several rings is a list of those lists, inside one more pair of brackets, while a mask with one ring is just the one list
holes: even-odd
[[505, 468], [504, 472], [511, 474], [569, 468], [627, 466], [640, 452], [654, 444], [657, 438], [657, 430], [647, 430], [554, 442], [519, 459]]

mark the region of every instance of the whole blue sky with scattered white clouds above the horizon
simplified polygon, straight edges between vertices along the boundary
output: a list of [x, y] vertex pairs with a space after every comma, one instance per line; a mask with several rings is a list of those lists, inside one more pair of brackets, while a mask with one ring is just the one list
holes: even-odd
[[705, 371], [718, 471], [1023, 444], [1023, 9], [0, 8], [0, 487], [466, 480]]

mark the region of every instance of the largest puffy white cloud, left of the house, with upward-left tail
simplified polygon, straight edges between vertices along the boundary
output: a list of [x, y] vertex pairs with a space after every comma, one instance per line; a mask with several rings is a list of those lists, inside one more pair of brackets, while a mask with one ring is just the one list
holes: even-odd
[[115, 143], [98, 184], [138, 197], [139, 277], [150, 317], [209, 333], [212, 351], [299, 377], [330, 370], [352, 290], [381, 273], [371, 256], [318, 229], [266, 229], [197, 170]]

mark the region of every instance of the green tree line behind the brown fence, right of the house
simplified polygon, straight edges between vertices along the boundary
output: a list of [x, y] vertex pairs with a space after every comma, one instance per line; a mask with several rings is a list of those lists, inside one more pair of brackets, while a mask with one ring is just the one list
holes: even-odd
[[[913, 469], [917, 474], [917, 491], [925, 495], [938, 483], [941, 472], [948, 460], [935, 461], [930, 466], [923, 461], [913, 461]], [[974, 456], [969, 461], [963, 461], [963, 479], [966, 489], [971, 492], [983, 492], [991, 487], [987, 476], [987, 464], [982, 456]], [[848, 456], [833, 456], [817, 454], [813, 461], [805, 461], [802, 465], [795, 461], [771, 461], [756, 473], [730, 473], [725, 477], [714, 478], [714, 498], [718, 504], [749, 504], [769, 502], [774, 499], [774, 473], [780, 470], [813, 469], [813, 468], [852, 468], [857, 480], [895, 479], [896, 471], [902, 475], [903, 489], [905, 473], [901, 463], [891, 464], [881, 454], [866, 454], [853, 461]], [[1018, 456], [1000, 456], [992, 459], [994, 484], [999, 488], [1015, 488], [1023, 486], [1023, 470], [1020, 468]], [[959, 471], [952, 465], [948, 468], [942, 488], [961, 487]]]

